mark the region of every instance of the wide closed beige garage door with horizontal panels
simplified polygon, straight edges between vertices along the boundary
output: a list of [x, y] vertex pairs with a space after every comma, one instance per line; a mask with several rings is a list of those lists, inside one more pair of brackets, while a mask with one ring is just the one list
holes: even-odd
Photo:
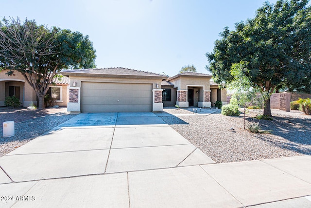
[[96, 112], [151, 112], [152, 84], [81, 83], [81, 110]]

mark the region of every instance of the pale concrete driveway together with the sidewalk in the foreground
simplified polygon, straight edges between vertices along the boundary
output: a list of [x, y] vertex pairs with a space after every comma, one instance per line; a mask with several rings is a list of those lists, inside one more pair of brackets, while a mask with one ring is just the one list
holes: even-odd
[[154, 113], [82, 113], [0, 158], [0, 207], [310, 207], [310, 164], [214, 164]]

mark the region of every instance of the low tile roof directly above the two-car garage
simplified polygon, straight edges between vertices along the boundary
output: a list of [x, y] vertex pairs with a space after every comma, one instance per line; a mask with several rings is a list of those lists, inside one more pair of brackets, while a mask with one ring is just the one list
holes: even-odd
[[64, 70], [62, 74], [69, 76], [70, 74], [93, 74], [93, 75], [130, 75], [130, 76], [163, 76], [164, 75], [139, 71], [134, 69], [115, 67], [115, 68], [96, 68], [96, 69], [74, 69], [74, 70]]

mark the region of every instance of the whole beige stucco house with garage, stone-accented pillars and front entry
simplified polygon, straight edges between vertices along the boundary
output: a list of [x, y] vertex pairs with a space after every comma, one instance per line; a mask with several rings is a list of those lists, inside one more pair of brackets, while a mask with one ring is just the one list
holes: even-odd
[[226, 91], [210, 83], [210, 75], [184, 73], [173, 77], [126, 68], [62, 71], [69, 76], [68, 111], [153, 112], [164, 106], [210, 107], [226, 104]]

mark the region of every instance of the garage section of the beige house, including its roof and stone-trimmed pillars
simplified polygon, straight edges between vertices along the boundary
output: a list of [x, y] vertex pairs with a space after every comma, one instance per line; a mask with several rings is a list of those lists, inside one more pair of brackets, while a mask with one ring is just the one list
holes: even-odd
[[126, 68], [62, 71], [69, 76], [70, 112], [162, 111], [166, 76]]

